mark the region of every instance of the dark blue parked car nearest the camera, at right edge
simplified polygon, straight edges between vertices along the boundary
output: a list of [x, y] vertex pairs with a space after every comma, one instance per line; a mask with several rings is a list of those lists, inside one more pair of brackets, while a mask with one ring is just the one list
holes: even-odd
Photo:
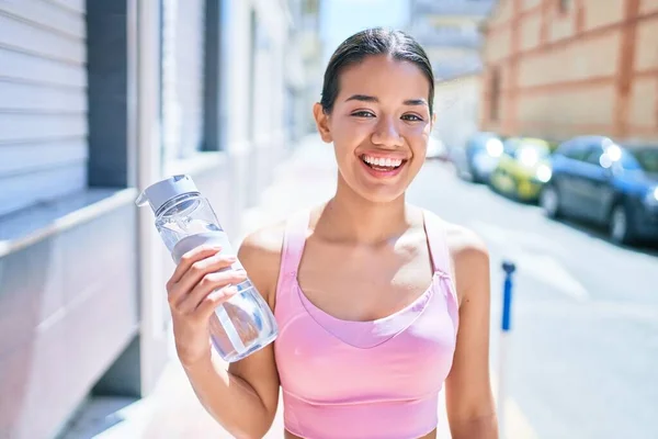
[[552, 167], [540, 201], [548, 216], [605, 225], [616, 243], [658, 238], [657, 145], [580, 136], [558, 147]]

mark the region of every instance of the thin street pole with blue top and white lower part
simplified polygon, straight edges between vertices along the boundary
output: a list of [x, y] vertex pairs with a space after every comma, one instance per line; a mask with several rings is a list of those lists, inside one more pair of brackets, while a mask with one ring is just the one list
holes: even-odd
[[506, 436], [506, 412], [504, 401], [507, 398], [507, 357], [508, 357], [508, 345], [511, 325], [511, 308], [512, 308], [512, 274], [517, 270], [517, 267], [510, 261], [502, 262], [502, 270], [504, 271], [504, 284], [502, 292], [502, 322], [500, 333], [500, 345], [498, 356], [498, 426], [500, 431], [500, 438], [504, 439]]

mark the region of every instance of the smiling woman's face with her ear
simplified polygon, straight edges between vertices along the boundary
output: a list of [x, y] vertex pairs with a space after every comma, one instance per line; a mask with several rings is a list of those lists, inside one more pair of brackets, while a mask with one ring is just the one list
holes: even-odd
[[426, 157], [428, 78], [382, 55], [344, 69], [339, 85], [331, 114], [316, 105], [316, 117], [322, 138], [333, 142], [341, 183], [372, 202], [399, 198]]

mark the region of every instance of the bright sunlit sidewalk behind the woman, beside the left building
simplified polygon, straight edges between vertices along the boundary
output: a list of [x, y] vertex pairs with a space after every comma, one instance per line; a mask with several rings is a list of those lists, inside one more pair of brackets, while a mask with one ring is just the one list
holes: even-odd
[[[331, 145], [310, 136], [275, 171], [273, 183], [261, 194], [258, 206], [243, 214], [242, 229], [234, 234], [236, 246], [251, 230], [276, 222], [291, 211], [311, 206], [329, 199], [337, 179], [336, 160]], [[229, 232], [230, 233], [230, 232]], [[123, 421], [95, 436], [100, 439], [228, 439], [226, 432], [205, 412], [196, 399], [180, 367], [173, 347], [170, 362], [154, 394], [125, 410]], [[443, 398], [441, 398], [443, 402]], [[266, 439], [283, 438], [283, 404]], [[450, 438], [444, 406], [440, 406], [439, 437]]]

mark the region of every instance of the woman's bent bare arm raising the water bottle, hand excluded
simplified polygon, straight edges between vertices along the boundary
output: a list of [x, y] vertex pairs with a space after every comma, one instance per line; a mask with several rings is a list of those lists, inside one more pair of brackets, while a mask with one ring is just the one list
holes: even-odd
[[[250, 280], [272, 307], [281, 239], [277, 230], [261, 230], [249, 236], [238, 251]], [[194, 361], [181, 361], [200, 402], [234, 437], [262, 438], [268, 432], [280, 385], [272, 344], [228, 368], [211, 358], [209, 349]]]

